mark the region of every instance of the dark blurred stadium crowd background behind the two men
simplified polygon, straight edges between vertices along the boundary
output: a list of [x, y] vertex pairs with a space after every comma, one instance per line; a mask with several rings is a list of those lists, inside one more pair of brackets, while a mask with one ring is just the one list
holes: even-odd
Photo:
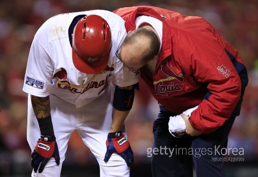
[[[241, 115], [233, 125], [228, 147], [244, 148], [244, 160], [227, 162], [226, 176], [258, 176], [258, 1], [256, 0], [1, 0], [0, 1], [0, 176], [30, 176], [30, 148], [26, 140], [27, 95], [22, 91], [30, 45], [36, 30], [48, 18], [67, 12], [150, 5], [201, 16], [233, 45], [248, 69], [249, 84]], [[136, 93], [126, 120], [135, 153], [131, 176], [151, 176], [147, 148], [152, 147], [152, 123], [157, 102], [146, 92]], [[232, 154], [228, 155], [229, 157]], [[98, 163], [74, 132], [69, 141], [62, 177], [99, 176]]]

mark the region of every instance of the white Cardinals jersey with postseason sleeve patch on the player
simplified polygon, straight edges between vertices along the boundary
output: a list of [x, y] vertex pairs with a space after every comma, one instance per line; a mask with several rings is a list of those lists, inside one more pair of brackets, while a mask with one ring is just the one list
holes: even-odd
[[[99, 74], [84, 74], [75, 68], [69, 41], [72, 20], [78, 15], [91, 14], [104, 18], [112, 35], [108, 66]], [[54, 94], [79, 108], [103, 95], [112, 84], [120, 87], [136, 84], [140, 76], [124, 67], [115, 55], [125, 36], [123, 19], [109, 11], [75, 12], [50, 18], [38, 29], [32, 42], [23, 91], [39, 97]]]

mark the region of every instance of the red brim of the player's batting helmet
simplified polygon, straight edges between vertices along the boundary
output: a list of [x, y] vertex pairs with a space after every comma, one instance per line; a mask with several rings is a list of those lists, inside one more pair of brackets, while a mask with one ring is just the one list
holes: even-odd
[[110, 51], [105, 57], [98, 59], [98, 61], [90, 65], [87, 62], [85, 62], [83, 59], [81, 59], [76, 54], [74, 48], [72, 47], [72, 61], [75, 68], [79, 70], [79, 72], [85, 73], [85, 74], [98, 74], [106, 68], [109, 60]]

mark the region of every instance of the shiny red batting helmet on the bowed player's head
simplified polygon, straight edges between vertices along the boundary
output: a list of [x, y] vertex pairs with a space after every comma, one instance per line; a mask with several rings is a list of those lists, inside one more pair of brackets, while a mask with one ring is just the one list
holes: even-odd
[[80, 72], [102, 72], [107, 66], [111, 47], [111, 30], [102, 17], [85, 16], [75, 25], [72, 36], [72, 61]]

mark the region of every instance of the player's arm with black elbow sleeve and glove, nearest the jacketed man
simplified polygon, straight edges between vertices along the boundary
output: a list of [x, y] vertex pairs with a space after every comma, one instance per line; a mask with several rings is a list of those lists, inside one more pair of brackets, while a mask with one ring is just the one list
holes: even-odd
[[113, 153], [118, 153], [131, 166], [134, 162], [134, 153], [129, 141], [124, 136], [123, 123], [129, 114], [134, 101], [134, 86], [115, 87], [113, 100], [112, 123], [106, 141], [107, 152], [104, 161], [108, 162]]

